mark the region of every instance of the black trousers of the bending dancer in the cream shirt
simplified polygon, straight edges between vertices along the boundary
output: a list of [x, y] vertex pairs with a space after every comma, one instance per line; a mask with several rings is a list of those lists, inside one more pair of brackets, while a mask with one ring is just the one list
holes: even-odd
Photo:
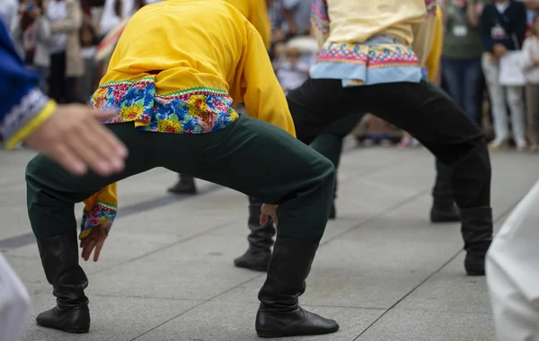
[[340, 80], [309, 79], [287, 95], [297, 138], [310, 144], [349, 112], [370, 112], [416, 137], [452, 167], [456, 204], [490, 206], [490, 158], [479, 127], [429, 83], [343, 88]]

